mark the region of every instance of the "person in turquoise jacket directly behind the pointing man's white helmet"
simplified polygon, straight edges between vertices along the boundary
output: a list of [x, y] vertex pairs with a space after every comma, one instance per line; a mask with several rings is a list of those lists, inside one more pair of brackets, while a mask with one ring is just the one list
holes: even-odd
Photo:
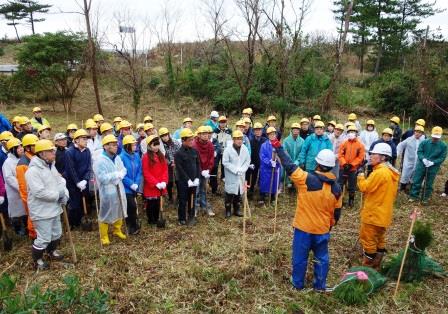
[[309, 135], [300, 149], [299, 165], [300, 168], [308, 172], [316, 169], [316, 156], [323, 149], [333, 150], [333, 144], [325, 134], [325, 124], [322, 121], [316, 121], [314, 124], [314, 133]]

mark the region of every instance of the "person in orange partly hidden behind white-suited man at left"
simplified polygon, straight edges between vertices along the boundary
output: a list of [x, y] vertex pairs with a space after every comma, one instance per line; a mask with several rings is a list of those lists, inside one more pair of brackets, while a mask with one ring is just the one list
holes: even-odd
[[17, 182], [19, 183], [19, 194], [20, 198], [22, 199], [23, 206], [25, 207], [26, 214], [28, 215], [27, 228], [28, 236], [31, 239], [35, 239], [37, 237], [37, 234], [29, 217], [28, 191], [26, 186], [25, 172], [28, 170], [31, 158], [34, 156], [34, 145], [38, 140], [38, 137], [34, 134], [26, 134], [22, 138], [22, 146], [25, 150], [25, 153], [22, 157], [20, 157], [16, 167]]

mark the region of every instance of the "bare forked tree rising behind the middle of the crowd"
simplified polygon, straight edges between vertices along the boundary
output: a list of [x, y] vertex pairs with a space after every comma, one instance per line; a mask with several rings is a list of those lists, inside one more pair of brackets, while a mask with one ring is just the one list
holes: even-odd
[[244, 35], [245, 58], [238, 59], [234, 49], [240, 42], [232, 45], [232, 35], [237, 35], [236, 31], [224, 35], [223, 39], [226, 46], [225, 52], [231, 66], [235, 80], [241, 90], [241, 105], [248, 105], [248, 94], [253, 84], [253, 70], [255, 67], [255, 56], [257, 52], [257, 38], [259, 27], [262, 23], [263, 6], [262, 0], [235, 0], [235, 4], [240, 11], [242, 18], [246, 23], [247, 34]]

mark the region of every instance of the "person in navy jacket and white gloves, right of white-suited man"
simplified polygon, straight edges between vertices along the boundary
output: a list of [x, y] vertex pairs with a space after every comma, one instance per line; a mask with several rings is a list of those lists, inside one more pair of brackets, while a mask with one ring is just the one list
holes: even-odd
[[[70, 195], [68, 220], [70, 226], [79, 227], [84, 216], [83, 198], [89, 196], [89, 180], [92, 174], [92, 155], [87, 148], [88, 133], [79, 129], [73, 136], [73, 145], [65, 152], [64, 178]], [[88, 202], [86, 202], [88, 203]]]

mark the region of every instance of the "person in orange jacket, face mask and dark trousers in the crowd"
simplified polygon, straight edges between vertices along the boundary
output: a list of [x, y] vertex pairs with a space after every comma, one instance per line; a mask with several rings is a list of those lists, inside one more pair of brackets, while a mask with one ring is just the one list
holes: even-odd
[[358, 129], [356, 126], [349, 126], [347, 129], [347, 140], [339, 146], [339, 180], [343, 187], [348, 181], [348, 206], [353, 207], [356, 190], [356, 173], [362, 166], [365, 156], [365, 148], [358, 139]]

